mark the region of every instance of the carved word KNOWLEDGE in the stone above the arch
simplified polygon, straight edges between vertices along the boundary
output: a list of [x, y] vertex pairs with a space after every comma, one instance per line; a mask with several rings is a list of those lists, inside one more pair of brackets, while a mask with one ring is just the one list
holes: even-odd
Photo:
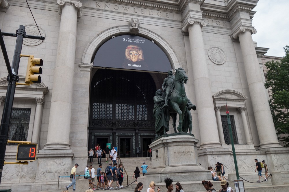
[[138, 7], [130, 7], [130, 6], [116, 5], [116, 4], [102, 3], [102, 2], [95, 2], [95, 7], [101, 8], [101, 9], [110, 9], [110, 10], [146, 15], [146, 16], [157, 16], [161, 18], [169, 18], [168, 12], [160, 12], [156, 10], [142, 9]]

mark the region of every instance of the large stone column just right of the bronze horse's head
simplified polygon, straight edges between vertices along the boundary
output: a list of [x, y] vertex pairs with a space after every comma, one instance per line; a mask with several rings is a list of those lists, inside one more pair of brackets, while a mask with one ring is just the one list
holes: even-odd
[[[205, 21], [190, 18], [182, 28], [182, 31], [188, 32], [190, 39], [201, 149], [221, 148], [201, 30], [203, 26], [206, 26]], [[208, 133], [210, 133], [210, 136], [208, 136]]]

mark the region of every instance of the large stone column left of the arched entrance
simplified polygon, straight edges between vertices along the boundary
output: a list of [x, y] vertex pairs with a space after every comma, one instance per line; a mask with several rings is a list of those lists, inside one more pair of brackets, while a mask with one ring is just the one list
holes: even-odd
[[69, 149], [77, 17], [81, 2], [58, 0], [60, 29], [54, 70], [47, 143], [44, 149]]

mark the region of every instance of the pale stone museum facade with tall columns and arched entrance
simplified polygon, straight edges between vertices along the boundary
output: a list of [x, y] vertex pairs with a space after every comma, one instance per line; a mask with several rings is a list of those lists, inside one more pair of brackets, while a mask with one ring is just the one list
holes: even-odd
[[[23, 41], [22, 54], [43, 59], [42, 83], [17, 85], [9, 132], [10, 140], [37, 143], [37, 159], [5, 165], [1, 188], [56, 189], [58, 176], [68, 176], [75, 163], [86, 165], [96, 143], [111, 143], [121, 157], [146, 157], [155, 138], [153, 97], [167, 76], [162, 69], [179, 67], [188, 76], [186, 95], [197, 106], [191, 114], [198, 162], [207, 168], [220, 161], [226, 173], [235, 171], [227, 103], [240, 175], [254, 178], [257, 158], [289, 177], [289, 151], [277, 140], [264, 87], [268, 49], [251, 37], [258, 30], [252, 26], [258, 0], [31, 0], [39, 30], [25, 0], [0, 2], [2, 32], [24, 25], [27, 34], [45, 37]], [[127, 44], [112, 52], [110, 42], [121, 36]], [[4, 41], [11, 63], [16, 38]], [[125, 50], [138, 61], [123, 65], [132, 58]], [[101, 51], [107, 59], [120, 58], [120, 65], [95, 60]], [[0, 61], [2, 114], [8, 73], [2, 54]], [[26, 68], [27, 58], [21, 58], [20, 81]], [[16, 149], [7, 145], [5, 161], [15, 161]]]

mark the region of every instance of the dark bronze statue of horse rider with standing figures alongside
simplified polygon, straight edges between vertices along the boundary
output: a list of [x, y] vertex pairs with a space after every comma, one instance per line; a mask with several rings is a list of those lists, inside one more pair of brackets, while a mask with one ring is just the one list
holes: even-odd
[[[196, 106], [186, 96], [185, 86], [188, 81], [186, 71], [182, 68], [168, 71], [168, 77], [164, 79], [162, 90], [157, 90], [154, 97], [155, 107], [153, 109], [153, 117], [155, 119], [156, 138], [165, 135], [168, 131], [169, 116], [173, 119], [173, 128], [177, 131], [192, 133], [192, 116], [190, 110], [196, 110]], [[179, 115], [179, 125], [176, 129], [177, 115]]]

